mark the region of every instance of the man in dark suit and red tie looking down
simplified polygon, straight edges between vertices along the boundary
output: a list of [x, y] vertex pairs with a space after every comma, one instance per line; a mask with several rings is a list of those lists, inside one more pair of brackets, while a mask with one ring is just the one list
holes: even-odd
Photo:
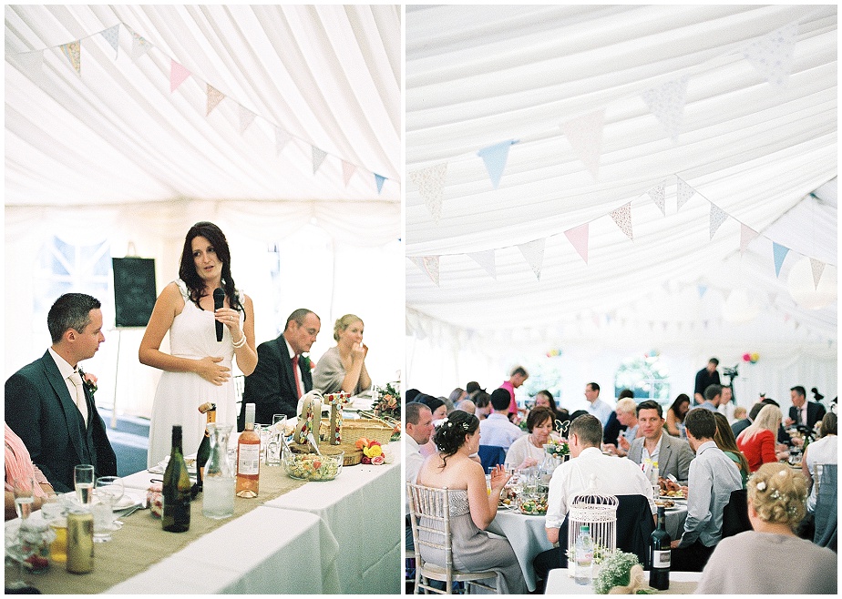
[[310, 360], [301, 354], [310, 351], [322, 321], [312, 310], [299, 308], [286, 320], [277, 339], [257, 346], [257, 367], [246, 377], [237, 430], [245, 426], [245, 406], [254, 404], [256, 422], [272, 423], [272, 415], [295, 418], [298, 400], [313, 390]]

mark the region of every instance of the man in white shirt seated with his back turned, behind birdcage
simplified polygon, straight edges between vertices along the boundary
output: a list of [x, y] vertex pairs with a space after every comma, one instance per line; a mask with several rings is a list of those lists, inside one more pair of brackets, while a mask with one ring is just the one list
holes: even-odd
[[630, 460], [618, 460], [601, 452], [602, 425], [596, 416], [585, 414], [570, 422], [568, 443], [570, 460], [563, 462], [549, 480], [547, 540], [561, 543], [535, 558], [533, 566], [539, 579], [546, 580], [547, 573], [560, 568], [561, 555], [566, 552], [567, 539], [559, 539], [559, 528], [570, 510], [570, 501], [577, 494], [589, 489], [594, 477], [597, 492], [611, 495], [643, 495], [649, 502], [652, 514], [657, 513], [653, 501], [652, 484], [642, 470]]

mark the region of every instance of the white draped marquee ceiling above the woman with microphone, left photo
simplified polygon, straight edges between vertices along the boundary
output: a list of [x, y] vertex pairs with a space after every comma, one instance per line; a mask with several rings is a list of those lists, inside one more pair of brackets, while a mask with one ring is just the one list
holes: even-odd
[[[400, 17], [396, 5], [6, 5], [5, 204], [399, 202]], [[117, 51], [101, 35], [114, 25]], [[80, 75], [61, 49], [77, 40]], [[171, 92], [173, 60], [191, 75]], [[206, 116], [208, 86], [225, 97]], [[241, 113], [254, 115], [243, 133]], [[290, 138], [280, 153], [277, 135]], [[315, 174], [313, 147], [326, 153]]]

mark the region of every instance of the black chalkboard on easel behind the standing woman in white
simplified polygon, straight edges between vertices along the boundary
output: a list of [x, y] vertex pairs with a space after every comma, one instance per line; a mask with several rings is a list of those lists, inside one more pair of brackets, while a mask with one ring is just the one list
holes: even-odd
[[112, 258], [118, 327], [146, 327], [155, 307], [155, 259]]

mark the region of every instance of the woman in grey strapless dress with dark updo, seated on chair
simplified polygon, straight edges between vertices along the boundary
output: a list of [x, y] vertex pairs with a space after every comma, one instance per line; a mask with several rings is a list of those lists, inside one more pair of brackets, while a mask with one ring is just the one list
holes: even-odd
[[[505, 408], [502, 411], [505, 418]], [[500, 492], [510, 475], [502, 465], [495, 467], [488, 494], [482, 466], [469, 457], [477, 452], [480, 437], [477, 417], [454, 411], [436, 431], [438, 452], [424, 462], [418, 473], [418, 484], [448, 490], [454, 565], [475, 572], [497, 570], [502, 574], [498, 576], [498, 593], [525, 594], [527, 586], [511, 544], [504, 538], [491, 538], [485, 532], [497, 515]], [[423, 516], [419, 526], [440, 528], [439, 523], [427, 521]], [[424, 538], [426, 533], [422, 530], [420, 534]], [[422, 545], [421, 555], [426, 561], [444, 567], [443, 551]]]

